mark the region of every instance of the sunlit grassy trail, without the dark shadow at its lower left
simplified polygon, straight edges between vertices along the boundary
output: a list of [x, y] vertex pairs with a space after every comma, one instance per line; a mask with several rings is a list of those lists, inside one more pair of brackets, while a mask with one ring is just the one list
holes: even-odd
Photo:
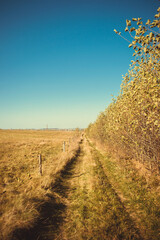
[[57, 193], [67, 207], [55, 239], [142, 239], [85, 138]]

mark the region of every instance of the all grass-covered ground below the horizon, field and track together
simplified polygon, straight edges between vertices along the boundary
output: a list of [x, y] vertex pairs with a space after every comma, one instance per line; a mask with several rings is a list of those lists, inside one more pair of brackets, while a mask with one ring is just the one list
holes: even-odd
[[[2, 131], [1, 238], [160, 239], [159, 177], [78, 135]], [[73, 137], [62, 153], [62, 142]]]

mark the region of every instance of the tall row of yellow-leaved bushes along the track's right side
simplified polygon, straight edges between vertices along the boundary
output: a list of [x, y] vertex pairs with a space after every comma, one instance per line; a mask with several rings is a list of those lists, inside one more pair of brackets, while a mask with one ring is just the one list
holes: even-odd
[[[121, 91], [87, 129], [88, 134], [118, 152], [160, 167], [160, 8], [154, 20], [126, 20], [134, 50]], [[153, 30], [154, 29], [154, 30]], [[120, 32], [114, 30], [124, 38]]]

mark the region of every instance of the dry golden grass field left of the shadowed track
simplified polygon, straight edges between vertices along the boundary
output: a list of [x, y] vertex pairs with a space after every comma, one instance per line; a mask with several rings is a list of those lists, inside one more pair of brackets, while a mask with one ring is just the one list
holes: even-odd
[[9, 238], [17, 228], [32, 226], [77, 139], [75, 131], [0, 130], [0, 239]]

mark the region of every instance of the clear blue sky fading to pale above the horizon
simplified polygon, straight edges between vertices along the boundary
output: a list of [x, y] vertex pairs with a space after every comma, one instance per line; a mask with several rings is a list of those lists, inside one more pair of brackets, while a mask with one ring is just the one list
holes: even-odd
[[0, 0], [0, 128], [87, 127], [133, 59], [126, 19], [158, 0]]

